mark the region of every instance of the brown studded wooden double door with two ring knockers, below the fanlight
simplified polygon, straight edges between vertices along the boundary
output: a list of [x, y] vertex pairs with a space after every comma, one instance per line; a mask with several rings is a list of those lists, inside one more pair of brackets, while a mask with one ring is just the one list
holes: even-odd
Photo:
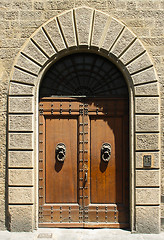
[[127, 99], [39, 105], [39, 227], [128, 228]]

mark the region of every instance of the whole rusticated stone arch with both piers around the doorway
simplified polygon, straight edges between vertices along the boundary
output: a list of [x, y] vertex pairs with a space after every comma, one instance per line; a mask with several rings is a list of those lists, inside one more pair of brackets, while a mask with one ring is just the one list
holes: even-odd
[[[81, 7], [50, 19], [25, 43], [11, 73], [8, 97], [9, 214], [12, 231], [37, 227], [38, 89], [56, 58], [94, 51], [115, 63], [130, 96], [131, 230], [160, 230], [159, 90], [153, 63], [141, 42], [121, 22]], [[143, 157], [152, 165], [143, 166]]]

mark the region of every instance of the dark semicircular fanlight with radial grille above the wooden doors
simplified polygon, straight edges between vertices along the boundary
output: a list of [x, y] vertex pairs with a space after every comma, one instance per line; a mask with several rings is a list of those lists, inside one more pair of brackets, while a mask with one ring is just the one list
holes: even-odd
[[106, 58], [91, 53], [68, 55], [45, 74], [40, 97], [127, 97], [122, 73]]

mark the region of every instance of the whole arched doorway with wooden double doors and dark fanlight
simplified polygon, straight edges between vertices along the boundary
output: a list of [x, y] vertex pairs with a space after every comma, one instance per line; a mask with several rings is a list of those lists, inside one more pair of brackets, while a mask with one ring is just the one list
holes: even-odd
[[108, 59], [77, 53], [40, 87], [39, 226], [129, 228], [128, 89]]

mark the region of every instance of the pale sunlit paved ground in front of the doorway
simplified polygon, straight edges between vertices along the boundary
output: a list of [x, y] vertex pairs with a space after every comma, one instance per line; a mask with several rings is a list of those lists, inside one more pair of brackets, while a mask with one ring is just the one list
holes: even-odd
[[115, 229], [39, 229], [33, 233], [0, 232], [0, 240], [164, 240], [160, 234], [131, 234]]

